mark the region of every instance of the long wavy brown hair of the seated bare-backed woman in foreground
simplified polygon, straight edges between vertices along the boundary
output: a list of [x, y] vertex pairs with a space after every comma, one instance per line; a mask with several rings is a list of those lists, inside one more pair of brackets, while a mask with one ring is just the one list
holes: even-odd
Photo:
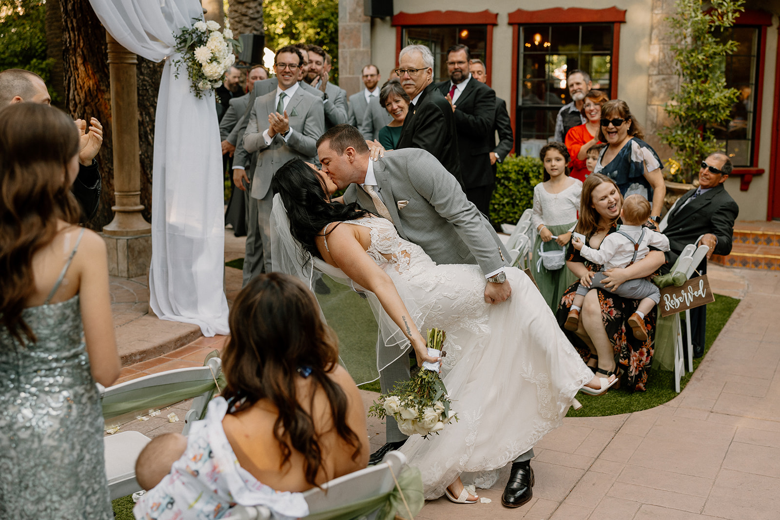
[[[279, 469], [289, 464], [292, 450], [298, 451], [307, 483], [317, 486], [315, 479], [323, 470], [323, 432], [314, 428], [313, 416], [321, 417], [323, 412], [335, 433], [355, 448], [352, 459], [356, 460], [361, 440], [346, 423], [346, 394], [328, 375], [339, 363], [338, 340], [321, 320], [312, 292], [287, 274], [260, 274], [239, 292], [229, 321], [230, 340], [222, 352], [227, 379], [222, 397], [235, 399], [239, 411], [261, 399], [275, 406], [274, 437], [282, 451]], [[310, 412], [303, 409], [296, 392], [300, 376], [313, 385]], [[328, 399], [328, 411], [314, 409], [318, 388]]]

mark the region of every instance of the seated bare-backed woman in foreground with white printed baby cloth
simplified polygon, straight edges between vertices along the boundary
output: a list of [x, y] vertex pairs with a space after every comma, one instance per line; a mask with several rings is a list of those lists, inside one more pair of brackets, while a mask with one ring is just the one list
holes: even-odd
[[286, 274], [260, 274], [229, 320], [227, 387], [193, 424], [171, 472], [138, 502], [137, 518], [168, 502], [166, 518], [218, 518], [236, 503], [303, 517], [301, 491], [367, 465], [363, 400], [314, 294]]

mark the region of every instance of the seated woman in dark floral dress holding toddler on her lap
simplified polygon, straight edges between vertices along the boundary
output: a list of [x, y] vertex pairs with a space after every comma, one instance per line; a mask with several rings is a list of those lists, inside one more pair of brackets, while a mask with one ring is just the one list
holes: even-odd
[[[583, 183], [580, 203], [580, 220], [575, 232], [585, 235], [585, 243], [598, 249], [601, 241], [618, 230], [623, 198], [615, 181], [606, 175], [591, 174]], [[605, 271], [605, 285], [616, 288], [622, 282], [644, 278], [653, 274], [664, 264], [664, 253], [651, 250], [644, 259], [624, 269]], [[601, 266], [580, 256], [580, 252], [569, 245], [566, 253], [566, 267], [569, 267], [580, 281], [569, 287], [561, 299], [556, 317], [558, 324], [566, 322], [578, 285], [590, 287], [590, 280]], [[629, 330], [627, 320], [636, 311], [639, 300], [622, 298], [601, 289], [588, 292], [580, 311], [580, 324], [575, 332], [565, 331], [591, 370], [604, 376], [618, 375], [631, 391], [645, 390], [647, 370], [653, 358], [653, 339], [656, 311], [645, 317], [650, 327], [647, 340], [639, 340]]]

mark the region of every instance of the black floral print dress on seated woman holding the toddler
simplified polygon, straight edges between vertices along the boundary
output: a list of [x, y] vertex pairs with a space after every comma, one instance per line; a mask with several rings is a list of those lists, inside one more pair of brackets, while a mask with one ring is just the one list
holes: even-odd
[[[617, 230], [617, 225], [613, 225], [607, 232], [607, 235]], [[590, 240], [590, 237], [588, 237], [588, 240]], [[574, 249], [570, 243], [569, 250], [566, 252], [566, 260], [583, 263], [588, 271], [601, 269], [600, 265], [594, 264], [590, 260], [585, 260], [580, 255], [580, 252]], [[579, 286], [580, 282], [577, 281], [566, 289], [555, 317], [558, 320], [558, 325], [566, 333], [566, 337], [569, 338], [574, 348], [587, 363], [587, 360], [590, 359], [590, 348], [574, 332], [566, 331], [563, 328], [563, 324], [566, 323], [566, 316], [569, 314], [569, 310], [571, 310], [574, 294]], [[626, 323], [629, 317], [636, 311], [636, 307], [639, 306], [639, 300], [622, 298], [602, 289], [595, 290], [598, 293], [598, 301], [601, 304], [601, 320], [604, 322], [607, 337], [615, 349], [615, 362], [622, 371], [622, 387], [629, 391], [644, 391], [647, 389], [647, 372], [650, 370], [653, 360], [655, 320], [657, 317], [656, 307], [645, 317], [648, 338], [642, 341], [634, 338], [631, 327]]]

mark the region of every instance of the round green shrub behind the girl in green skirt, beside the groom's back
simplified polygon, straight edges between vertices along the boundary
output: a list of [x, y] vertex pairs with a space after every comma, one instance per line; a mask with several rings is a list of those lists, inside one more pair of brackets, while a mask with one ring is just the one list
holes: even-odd
[[541, 182], [542, 175], [543, 168], [537, 157], [511, 154], [498, 164], [490, 201], [493, 225], [516, 224], [523, 211], [534, 206], [534, 186]]

